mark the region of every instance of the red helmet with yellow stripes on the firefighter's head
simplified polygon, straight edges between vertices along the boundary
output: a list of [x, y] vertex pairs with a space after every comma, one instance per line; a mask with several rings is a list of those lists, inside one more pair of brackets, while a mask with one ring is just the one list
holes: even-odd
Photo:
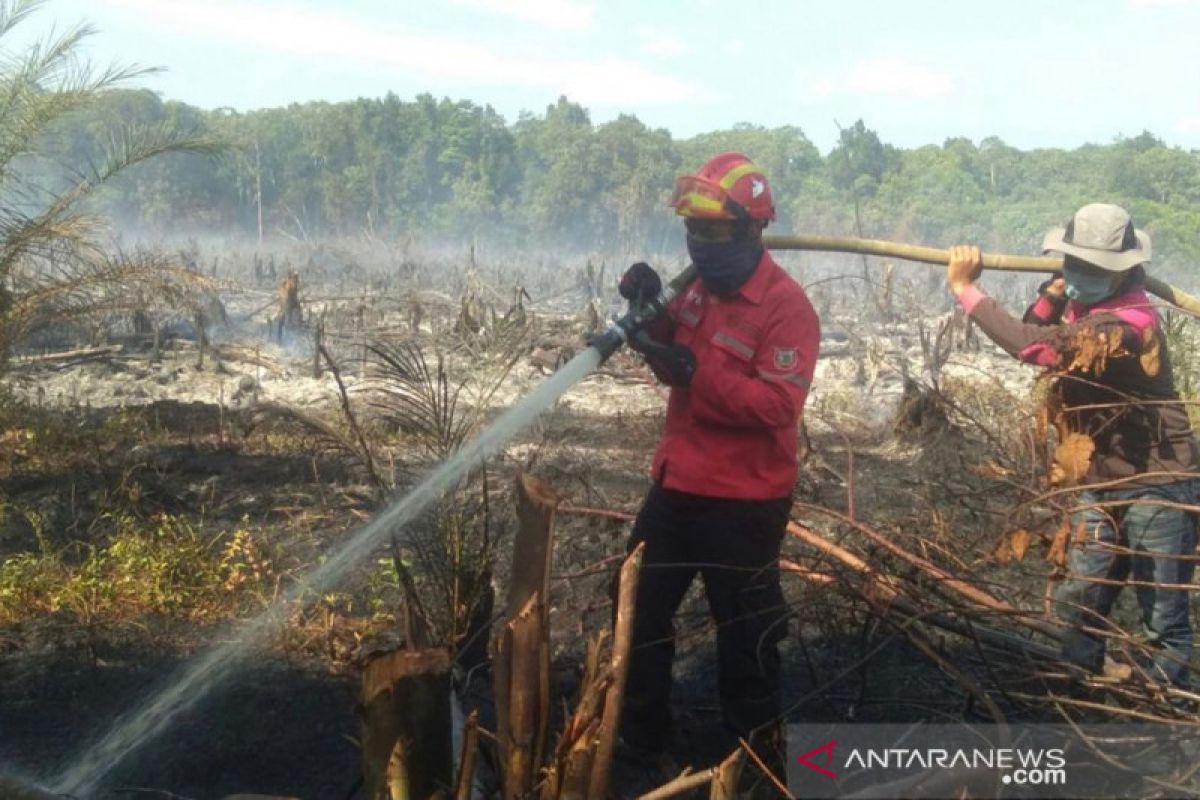
[[718, 154], [695, 175], [676, 179], [671, 205], [680, 217], [698, 219], [775, 218], [767, 176], [740, 152]]

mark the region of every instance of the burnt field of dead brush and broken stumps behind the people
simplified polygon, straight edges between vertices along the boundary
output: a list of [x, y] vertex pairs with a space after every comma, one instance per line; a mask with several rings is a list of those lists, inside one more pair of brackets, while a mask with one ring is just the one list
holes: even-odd
[[[101, 314], [86, 335], [55, 331], [68, 354], [14, 361], [0, 453], [8, 658], [38, 639], [64, 651], [83, 642], [102, 660], [115, 636], [186, 642], [198, 621], [262, 608], [577, 349], [596, 296], [614, 294], [594, 285], [594, 269], [414, 259], [397, 270], [358, 255], [372, 287], [361, 291], [338, 284], [328, 253], [299, 252], [277, 261], [302, 278], [302, 321], [282, 343], [270, 341], [280, 309], [270, 284], [256, 289], [239, 273], [251, 261], [224, 254], [205, 281], [221, 288], [228, 325], [209, 327], [203, 365], [194, 329], [176, 325], [187, 315], [149, 306], [158, 337]], [[1128, 633], [1110, 646], [1124, 679], [1081, 675], [1056, 657], [1046, 593], [1073, 543], [1063, 518], [1090, 441], [1062, 426], [1044, 386], [959, 315], [934, 313], [916, 278], [889, 278], [889, 305], [911, 321], [863, 324], [860, 282], [793, 266], [812, 284], [827, 336], [782, 565], [787, 718], [1194, 720], [1186, 702], [1200, 698], [1138, 668], [1150, 644], [1128, 608], [1118, 614]], [[1190, 385], [1195, 349], [1171, 325]], [[1116, 355], [1097, 348], [1096, 357]], [[203, 402], [182, 403], [192, 398]], [[618, 354], [397, 531], [349, 585], [296, 610], [286, 652], [365, 675], [367, 727], [347, 734], [372, 796], [397, 796], [406, 782], [408, 796], [600, 796], [623, 661], [620, 625], [604, 633], [606, 587], [661, 409], [646, 369]], [[516, 468], [541, 480], [514, 494]], [[556, 528], [557, 545], [514, 537], [530, 528]], [[704, 710], [713, 631], [689, 608], [680, 692], [698, 710], [684, 715], [692, 739], [677, 754], [694, 771], [652, 796], [702, 784], [724, 796], [737, 770], [756, 770], [737, 742], [718, 752], [706, 742], [720, 740]], [[413, 730], [433, 729], [460, 730], [461, 747], [446, 740], [436, 759], [421, 756]], [[434, 765], [433, 777], [418, 764]], [[304, 795], [287, 781], [278, 790]]]

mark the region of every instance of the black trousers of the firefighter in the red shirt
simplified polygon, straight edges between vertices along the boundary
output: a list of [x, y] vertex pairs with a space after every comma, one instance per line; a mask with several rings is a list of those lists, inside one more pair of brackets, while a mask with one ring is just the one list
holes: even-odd
[[731, 500], [665, 489], [646, 498], [629, 541], [646, 542], [622, 715], [630, 744], [660, 750], [671, 734], [673, 619], [696, 573], [716, 622], [726, 727], [749, 736], [780, 712], [779, 642], [787, 609], [779, 547], [791, 498]]

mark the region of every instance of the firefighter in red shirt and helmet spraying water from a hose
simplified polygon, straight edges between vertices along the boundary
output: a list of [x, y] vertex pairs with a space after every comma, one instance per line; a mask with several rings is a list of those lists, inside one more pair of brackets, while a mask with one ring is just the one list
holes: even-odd
[[[646, 542], [646, 552], [622, 739], [643, 758], [671, 740], [672, 619], [697, 572], [716, 622], [725, 727], [751, 741], [778, 728], [779, 549], [820, 341], [804, 290], [763, 248], [775, 207], [748, 157], [720, 154], [679, 178], [672, 205], [700, 279], [649, 331], [661, 344], [643, 348], [671, 386], [654, 485], [630, 536], [630, 549]], [[635, 264], [620, 293], [636, 301], [660, 285]]]

